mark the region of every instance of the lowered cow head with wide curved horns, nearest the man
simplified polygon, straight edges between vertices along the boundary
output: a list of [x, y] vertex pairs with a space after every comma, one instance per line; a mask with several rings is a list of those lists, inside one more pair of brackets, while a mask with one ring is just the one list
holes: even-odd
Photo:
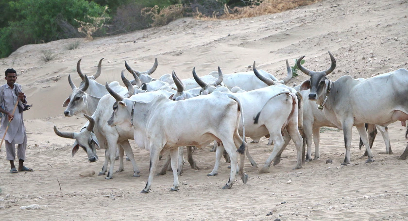
[[95, 120], [84, 114], [85, 118], [89, 120], [89, 124], [86, 126], [86, 130], [81, 131], [80, 133], [72, 133], [72, 132], [61, 132], [58, 131], [57, 127], [54, 126], [54, 132], [56, 135], [75, 139], [74, 147], [72, 148], [72, 156], [78, 152], [79, 147], [84, 149], [84, 151], [88, 154], [89, 162], [95, 162], [98, 160], [98, 155], [96, 154], [96, 149], [99, 150], [99, 142], [94, 133], [92, 133], [93, 127], [95, 125]]

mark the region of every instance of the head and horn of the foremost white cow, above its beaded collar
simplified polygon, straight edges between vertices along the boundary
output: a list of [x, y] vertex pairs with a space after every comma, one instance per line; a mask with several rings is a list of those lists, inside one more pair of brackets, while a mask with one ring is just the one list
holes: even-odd
[[118, 93], [113, 91], [110, 87], [109, 84], [106, 82], [106, 90], [108, 90], [109, 94], [112, 95], [116, 99], [116, 102], [113, 104], [113, 113], [111, 117], [108, 120], [108, 125], [111, 127], [114, 127], [116, 125], [120, 125], [123, 123], [128, 123], [131, 124], [131, 116], [129, 111], [127, 111], [127, 105], [124, 102], [125, 98], [120, 96]]

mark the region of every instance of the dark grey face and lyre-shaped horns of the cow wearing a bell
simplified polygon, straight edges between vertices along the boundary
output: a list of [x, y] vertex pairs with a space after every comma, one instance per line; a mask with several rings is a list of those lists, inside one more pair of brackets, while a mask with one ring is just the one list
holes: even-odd
[[312, 71], [309, 69], [304, 68], [300, 61], [305, 57], [302, 56], [300, 59], [297, 60], [297, 67], [305, 74], [310, 76], [309, 80], [306, 80], [300, 85], [300, 90], [308, 90], [310, 89], [309, 93], [309, 100], [313, 101], [320, 101], [323, 100], [323, 97], [326, 93], [326, 88], [328, 87], [328, 79], [327, 75], [330, 74], [334, 68], [336, 68], [336, 59], [334, 59], [333, 55], [330, 53], [331, 59], [331, 67], [327, 70], [323, 71]]

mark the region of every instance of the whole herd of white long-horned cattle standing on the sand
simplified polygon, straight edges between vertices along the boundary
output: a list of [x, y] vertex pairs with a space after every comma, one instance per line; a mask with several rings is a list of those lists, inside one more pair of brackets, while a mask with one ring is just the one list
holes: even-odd
[[[170, 153], [174, 183], [171, 190], [178, 190], [178, 173], [182, 172], [183, 146], [187, 147], [187, 159], [193, 169], [199, 169], [192, 158], [193, 147], [205, 147], [214, 141], [216, 161], [208, 174], [218, 174], [224, 152], [231, 161], [229, 181], [222, 188], [231, 188], [238, 170], [243, 183], [248, 180], [244, 172], [245, 156], [256, 167], [245, 137], [257, 143], [263, 136], [274, 144], [273, 151], [260, 172], [268, 172], [272, 161], [280, 162], [280, 156], [289, 141], [296, 147], [297, 164], [302, 168], [311, 161], [311, 141], [315, 144], [315, 159], [319, 158], [320, 127], [336, 127], [343, 130], [346, 154], [343, 165], [350, 163], [352, 127], [356, 126], [361, 144], [366, 146], [367, 162], [373, 162], [371, 146], [377, 129], [384, 137], [387, 154], [391, 154], [387, 125], [397, 120], [408, 120], [408, 70], [398, 69], [368, 79], [342, 76], [330, 81], [327, 75], [336, 68], [336, 60], [329, 51], [331, 67], [324, 71], [311, 71], [297, 60], [298, 68], [310, 79], [296, 87], [287, 84], [292, 71], [286, 61], [288, 76], [279, 81], [272, 74], [257, 70], [222, 74], [221, 69], [204, 77], [198, 77], [195, 68], [193, 78], [180, 80], [176, 73], [165, 74], [159, 79], [150, 75], [157, 68], [157, 59], [147, 71], [129, 67], [134, 80], [121, 78], [106, 85], [96, 79], [101, 74], [102, 59], [97, 72], [87, 77], [77, 63], [82, 79], [79, 87], [68, 76], [72, 93], [63, 103], [64, 115], [85, 116], [87, 123], [79, 133], [61, 132], [58, 136], [75, 139], [72, 156], [85, 150], [90, 162], [98, 160], [96, 149], [105, 149], [105, 162], [99, 175], [110, 167], [106, 179], [112, 179], [114, 162], [119, 151], [119, 170], [123, 171], [123, 155], [126, 153], [133, 165], [134, 176], [139, 176], [129, 140], [135, 140], [140, 148], [150, 150], [150, 171], [146, 187], [149, 192], [153, 175], [161, 153]], [[367, 132], [369, 136], [367, 136]], [[408, 133], [408, 131], [407, 131]], [[362, 145], [360, 145], [361, 147]], [[408, 149], [408, 147], [407, 147]], [[239, 156], [239, 163], [238, 163]], [[406, 150], [401, 158], [407, 158]], [[239, 169], [238, 169], [239, 167]], [[165, 165], [163, 170], [166, 170]]]

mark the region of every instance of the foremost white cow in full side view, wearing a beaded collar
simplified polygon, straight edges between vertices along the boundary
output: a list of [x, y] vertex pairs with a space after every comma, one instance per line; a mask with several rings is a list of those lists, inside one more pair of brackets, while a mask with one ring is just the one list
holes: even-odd
[[[222, 142], [231, 156], [230, 179], [222, 188], [231, 188], [235, 181], [237, 149], [238, 153], [241, 153], [239, 174], [243, 183], [247, 182], [248, 175], [243, 168], [246, 143], [238, 135], [239, 112], [242, 115], [242, 107], [234, 96], [218, 92], [182, 101], [171, 101], [161, 95], [150, 102], [144, 102], [133, 101], [132, 97], [125, 99], [111, 91], [109, 85], [106, 85], [106, 88], [117, 100], [108, 124], [133, 127], [137, 145], [150, 149], [149, 179], [142, 193], [150, 191], [160, 152], [170, 150], [174, 176], [171, 190], [175, 191], [179, 186], [177, 147], [202, 147], [213, 140]], [[200, 122], [200, 125], [191, 122]]]

